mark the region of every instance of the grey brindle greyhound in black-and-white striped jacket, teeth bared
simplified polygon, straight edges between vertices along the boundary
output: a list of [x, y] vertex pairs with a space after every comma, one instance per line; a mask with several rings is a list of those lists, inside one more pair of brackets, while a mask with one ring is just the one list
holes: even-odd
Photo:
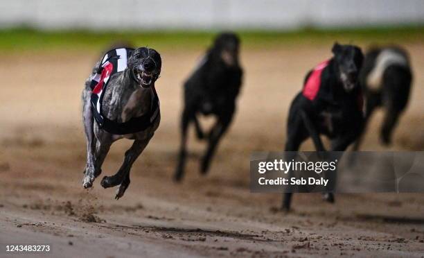
[[[161, 56], [154, 49], [145, 47], [135, 50], [124, 49], [124, 53], [127, 56], [116, 55], [116, 59], [127, 60], [126, 68], [109, 76], [107, 87], [99, 101], [100, 118], [105, 119], [105, 122], [109, 121], [109, 127], [106, 123], [99, 123], [96, 118], [96, 106], [93, 105], [92, 99], [96, 88], [93, 89], [91, 85], [93, 78], [100, 75], [100, 69], [105, 69], [102, 67], [105, 64], [105, 58], [103, 62], [96, 64], [82, 92], [82, 115], [87, 137], [87, 166], [82, 182], [84, 188], [92, 187], [94, 179], [100, 175], [103, 161], [114, 141], [123, 138], [134, 139], [131, 148], [125, 152], [123, 164], [118, 172], [112, 176], [105, 176], [100, 183], [105, 188], [118, 186], [116, 199], [121, 198], [129, 186], [132, 164], [148, 145], [160, 121], [159, 100], [154, 83], [161, 72]], [[155, 101], [157, 112], [154, 119], [150, 119], [153, 118], [150, 114], [154, 111], [152, 109]], [[139, 125], [132, 121], [140, 121], [136, 119], [143, 116], [149, 116], [149, 119], [144, 120], [148, 123], [141, 127], [142, 130], [134, 130]], [[125, 128], [127, 126], [131, 127], [130, 130]], [[109, 130], [110, 128], [116, 130]]]

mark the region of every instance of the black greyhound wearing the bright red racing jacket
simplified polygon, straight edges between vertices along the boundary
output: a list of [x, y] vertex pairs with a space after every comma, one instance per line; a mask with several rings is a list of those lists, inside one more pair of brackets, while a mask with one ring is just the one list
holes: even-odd
[[[292, 101], [285, 151], [297, 151], [312, 138], [317, 151], [325, 151], [320, 135], [331, 140], [333, 151], [344, 151], [359, 137], [364, 124], [362, 90], [357, 80], [364, 55], [357, 46], [333, 46], [333, 58], [310, 71], [303, 90]], [[288, 157], [292, 160], [292, 157]], [[326, 193], [333, 203], [333, 193]], [[292, 193], [285, 193], [283, 209], [290, 209]]]

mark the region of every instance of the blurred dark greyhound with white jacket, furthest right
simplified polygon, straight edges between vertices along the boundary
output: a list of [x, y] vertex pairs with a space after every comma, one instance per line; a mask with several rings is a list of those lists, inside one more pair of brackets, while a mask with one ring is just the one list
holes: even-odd
[[[376, 107], [383, 107], [385, 119], [380, 139], [388, 145], [411, 91], [412, 69], [407, 51], [399, 46], [369, 49], [360, 72], [360, 83], [366, 99], [365, 126]], [[356, 141], [353, 150], [360, 148], [361, 140], [362, 137]]]

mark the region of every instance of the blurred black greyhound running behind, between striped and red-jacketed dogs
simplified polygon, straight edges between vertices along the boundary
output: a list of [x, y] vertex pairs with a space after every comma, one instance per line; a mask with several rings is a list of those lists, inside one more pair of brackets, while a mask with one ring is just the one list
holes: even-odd
[[[218, 142], [226, 132], [236, 111], [236, 98], [242, 85], [242, 68], [238, 62], [240, 40], [234, 33], [222, 33], [215, 38], [193, 74], [184, 84], [184, 110], [181, 120], [181, 148], [175, 180], [184, 175], [188, 124], [194, 122], [196, 135], [209, 145], [202, 157], [200, 171], [206, 173]], [[204, 135], [197, 119], [199, 114], [214, 115], [216, 123]]]

